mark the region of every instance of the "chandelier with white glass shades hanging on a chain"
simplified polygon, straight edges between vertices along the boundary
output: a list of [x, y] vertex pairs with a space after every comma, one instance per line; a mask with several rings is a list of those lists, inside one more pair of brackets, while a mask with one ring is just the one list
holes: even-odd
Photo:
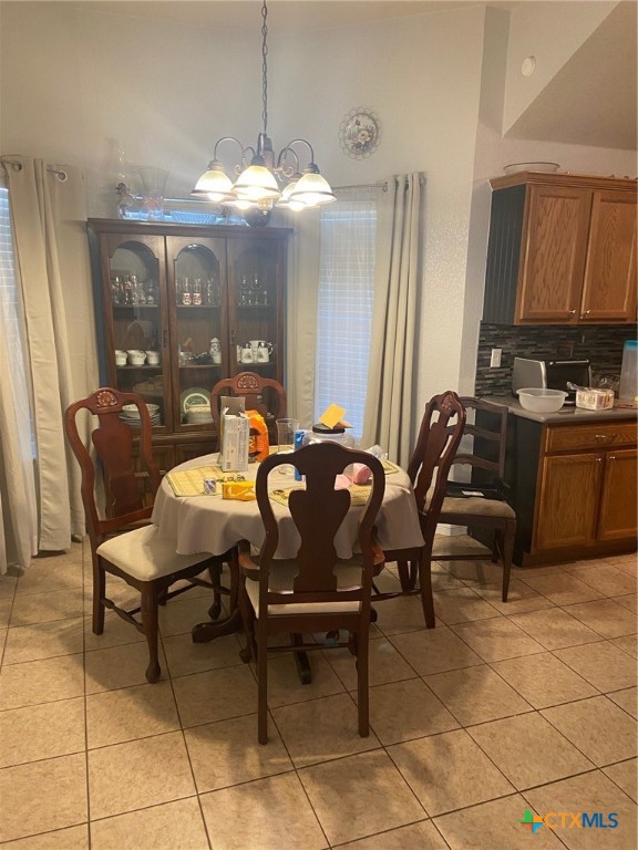
[[[275, 159], [272, 142], [268, 136], [268, 45], [266, 0], [261, 6], [261, 121], [263, 131], [257, 137], [257, 148], [245, 147], [235, 136], [222, 136], [215, 143], [213, 159], [199, 177], [193, 191], [195, 197], [235, 207], [241, 211], [269, 210], [274, 206], [302, 210], [336, 200], [330, 184], [321, 176], [315, 163], [312, 145], [305, 138], [294, 138]], [[234, 166], [235, 183], [217, 156], [222, 145], [239, 149], [239, 162]], [[301, 170], [300, 147], [309, 162]]]

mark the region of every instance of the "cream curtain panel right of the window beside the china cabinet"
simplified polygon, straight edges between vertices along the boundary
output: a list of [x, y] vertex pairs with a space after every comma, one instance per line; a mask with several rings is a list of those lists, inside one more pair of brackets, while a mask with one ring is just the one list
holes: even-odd
[[414, 431], [416, 310], [423, 269], [424, 176], [388, 180], [377, 226], [377, 271], [364, 446], [378, 443], [408, 466]]

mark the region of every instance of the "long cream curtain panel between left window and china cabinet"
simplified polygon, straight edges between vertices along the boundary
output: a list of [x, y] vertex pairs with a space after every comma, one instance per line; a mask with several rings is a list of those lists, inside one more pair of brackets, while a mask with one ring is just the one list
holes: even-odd
[[7, 173], [32, 387], [38, 548], [60, 551], [84, 535], [64, 411], [99, 380], [84, 190], [75, 168], [11, 159], [19, 164]]

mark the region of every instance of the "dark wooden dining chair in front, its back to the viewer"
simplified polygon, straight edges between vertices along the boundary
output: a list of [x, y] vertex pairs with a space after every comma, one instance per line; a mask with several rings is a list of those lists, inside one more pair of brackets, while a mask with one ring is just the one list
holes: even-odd
[[[359, 511], [358, 542], [347, 560], [337, 554], [336, 535], [351, 498], [348, 489], [336, 489], [335, 479], [350, 464], [366, 464], [372, 483], [366, 488]], [[268, 475], [281, 464], [294, 464], [306, 485], [289, 491], [288, 508], [299, 535], [297, 557], [276, 559], [279, 527], [268, 491]], [[357, 659], [359, 734], [369, 734], [368, 641], [372, 573], [383, 566], [383, 553], [373, 542], [373, 526], [385, 488], [383, 466], [364, 452], [336, 443], [316, 443], [287, 455], [270, 455], [257, 471], [257, 504], [266, 537], [254, 558], [248, 542], [239, 545], [239, 608], [246, 631], [244, 661], [257, 656], [258, 738], [268, 740], [267, 655], [270, 652], [301, 653], [348, 646]], [[361, 490], [359, 490], [361, 493]], [[347, 632], [339, 640], [339, 630]], [[306, 633], [330, 632], [329, 644], [305, 642]], [[270, 635], [290, 636], [272, 644]]]

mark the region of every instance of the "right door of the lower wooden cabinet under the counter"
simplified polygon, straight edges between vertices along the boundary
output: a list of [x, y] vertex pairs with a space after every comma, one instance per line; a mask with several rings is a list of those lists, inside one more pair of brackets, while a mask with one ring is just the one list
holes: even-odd
[[598, 540], [625, 540], [638, 532], [636, 487], [638, 450], [611, 450], [605, 458]]

